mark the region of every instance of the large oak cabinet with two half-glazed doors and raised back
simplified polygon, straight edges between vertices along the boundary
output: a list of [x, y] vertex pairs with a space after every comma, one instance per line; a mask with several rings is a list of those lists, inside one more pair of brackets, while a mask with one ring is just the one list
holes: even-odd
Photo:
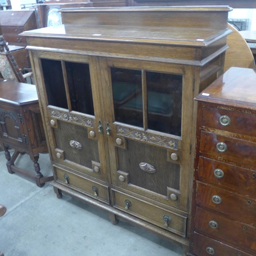
[[228, 7], [62, 9], [27, 31], [62, 191], [188, 250], [194, 97], [223, 73]]

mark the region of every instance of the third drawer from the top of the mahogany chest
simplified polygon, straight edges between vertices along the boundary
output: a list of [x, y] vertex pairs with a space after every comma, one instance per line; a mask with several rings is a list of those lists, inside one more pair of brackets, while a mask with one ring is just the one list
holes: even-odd
[[198, 179], [246, 197], [255, 196], [256, 171], [250, 169], [200, 157]]

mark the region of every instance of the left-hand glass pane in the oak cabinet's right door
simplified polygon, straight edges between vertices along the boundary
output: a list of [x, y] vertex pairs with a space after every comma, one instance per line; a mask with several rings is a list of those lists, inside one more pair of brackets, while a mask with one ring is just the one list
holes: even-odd
[[115, 121], [143, 127], [141, 71], [111, 68]]

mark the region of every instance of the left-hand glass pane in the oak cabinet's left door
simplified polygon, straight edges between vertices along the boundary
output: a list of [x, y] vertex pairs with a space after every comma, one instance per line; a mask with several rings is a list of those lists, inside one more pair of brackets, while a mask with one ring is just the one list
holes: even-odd
[[41, 59], [48, 104], [68, 109], [61, 62], [59, 60]]

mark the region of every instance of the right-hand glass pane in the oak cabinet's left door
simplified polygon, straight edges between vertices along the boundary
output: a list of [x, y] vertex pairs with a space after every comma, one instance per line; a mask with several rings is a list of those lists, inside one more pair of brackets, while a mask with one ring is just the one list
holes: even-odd
[[89, 65], [87, 63], [65, 62], [71, 109], [94, 115], [93, 95]]

